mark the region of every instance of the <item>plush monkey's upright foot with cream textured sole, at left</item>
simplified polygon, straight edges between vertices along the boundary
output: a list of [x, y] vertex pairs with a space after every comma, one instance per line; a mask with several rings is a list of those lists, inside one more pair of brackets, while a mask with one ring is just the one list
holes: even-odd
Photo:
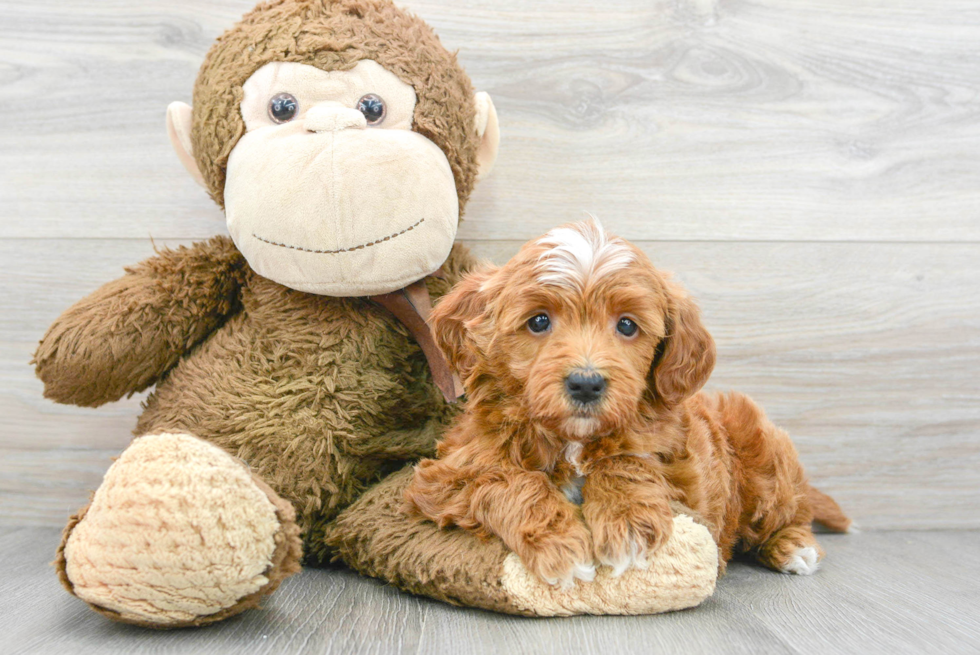
[[62, 584], [109, 618], [203, 625], [300, 569], [293, 507], [237, 459], [188, 434], [140, 437], [65, 528]]

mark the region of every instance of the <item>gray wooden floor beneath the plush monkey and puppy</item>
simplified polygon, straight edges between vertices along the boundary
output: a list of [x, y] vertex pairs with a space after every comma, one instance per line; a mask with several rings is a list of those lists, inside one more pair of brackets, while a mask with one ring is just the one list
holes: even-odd
[[416, 598], [344, 569], [287, 580], [262, 610], [203, 629], [112, 623], [64, 592], [51, 528], [0, 531], [0, 652], [977, 653], [977, 531], [821, 535], [809, 578], [734, 563], [701, 607], [523, 619]]

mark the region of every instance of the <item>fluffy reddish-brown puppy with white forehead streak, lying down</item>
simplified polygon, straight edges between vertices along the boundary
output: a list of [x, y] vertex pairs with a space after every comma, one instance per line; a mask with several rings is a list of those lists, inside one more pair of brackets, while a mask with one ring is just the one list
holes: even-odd
[[597, 222], [467, 276], [432, 326], [468, 400], [409, 506], [497, 535], [552, 584], [645, 566], [673, 501], [706, 521], [722, 566], [749, 551], [810, 574], [823, 556], [811, 521], [850, 524], [749, 398], [698, 393], [715, 347], [697, 306]]

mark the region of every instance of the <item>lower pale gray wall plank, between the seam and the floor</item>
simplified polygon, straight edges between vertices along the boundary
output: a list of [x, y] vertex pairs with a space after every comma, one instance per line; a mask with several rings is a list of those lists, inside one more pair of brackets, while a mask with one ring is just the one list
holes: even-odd
[[[505, 261], [519, 245], [475, 250]], [[704, 310], [719, 346], [709, 386], [759, 401], [862, 526], [980, 527], [980, 246], [641, 245]], [[0, 318], [0, 523], [61, 524], [128, 443], [138, 399], [53, 404], [28, 361], [64, 308], [152, 252], [0, 240], [0, 306], [16, 308]]]

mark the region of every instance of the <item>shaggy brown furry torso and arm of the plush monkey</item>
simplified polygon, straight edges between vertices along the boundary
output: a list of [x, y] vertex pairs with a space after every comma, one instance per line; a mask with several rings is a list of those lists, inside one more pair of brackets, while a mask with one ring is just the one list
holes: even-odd
[[[35, 355], [45, 396], [94, 407], [156, 383], [134, 434], [186, 431], [296, 508], [307, 556], [368, 486], [431, 454], [452, 413], [407, 329], [360, 298], [287, 289], [227, 237], [163, 251], [68, 309]], [[441, 296], [473, 264], [456, 246]]]

